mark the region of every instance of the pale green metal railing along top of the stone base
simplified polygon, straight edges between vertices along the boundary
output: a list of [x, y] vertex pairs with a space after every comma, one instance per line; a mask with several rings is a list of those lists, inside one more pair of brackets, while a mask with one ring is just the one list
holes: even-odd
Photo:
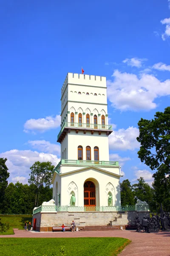
[[127, 212], [127, 211], [149, 211], [148, 205], [126, 205], [126, 206], [57, 206], [41, 205], [34, 209], [33, 214], [38, 212]]

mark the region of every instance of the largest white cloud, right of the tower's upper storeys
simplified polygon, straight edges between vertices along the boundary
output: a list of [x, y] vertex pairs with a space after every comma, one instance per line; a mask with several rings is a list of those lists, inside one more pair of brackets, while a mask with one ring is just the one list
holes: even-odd
[[156, 108], [153, 101], [160, 96], [170, 95], [170, 79], [161, 82], [152, 74], [121, 73], [114, 70], [113, 81], [107, 81], [108, 99], [112, 107], [121, 111], [151, 110]]

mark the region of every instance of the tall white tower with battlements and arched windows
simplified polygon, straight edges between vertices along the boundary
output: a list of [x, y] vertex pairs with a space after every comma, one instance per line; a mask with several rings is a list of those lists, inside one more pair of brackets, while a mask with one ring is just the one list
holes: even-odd
[[55, 204], [75, 206], [120, 205], [119, 163], [109, 161], [106, 78], [68, 73], [62, 86], [61, 161], [52, 184]]

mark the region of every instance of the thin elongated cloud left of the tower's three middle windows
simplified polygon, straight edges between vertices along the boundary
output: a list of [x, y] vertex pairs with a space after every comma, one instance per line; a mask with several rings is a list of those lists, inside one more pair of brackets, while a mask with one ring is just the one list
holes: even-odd
[[46, 140], [29, 140], [28, 143], [33, 147], [37, 148], [40, 151], [46, 152], [46, 153], [55, 153], [57, 155], [60, 155], [61, 148], [57, 144], [50, 143]]

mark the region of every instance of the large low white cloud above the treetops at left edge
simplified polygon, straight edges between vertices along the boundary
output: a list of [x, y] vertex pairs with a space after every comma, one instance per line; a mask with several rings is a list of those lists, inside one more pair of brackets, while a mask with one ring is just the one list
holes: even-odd
[[29, 179], [30, 167], [34, 162], [50, 161], [54, 166], [57, 166], [60, 159], [54, 154], [38, 153], [31, 150], [17, 150], [13, 149], [0, 153], [0, 157], [6, 157], [6, 166], [10, 173], [9, 182], [16, 182], [17, 180], [27, 183]]

